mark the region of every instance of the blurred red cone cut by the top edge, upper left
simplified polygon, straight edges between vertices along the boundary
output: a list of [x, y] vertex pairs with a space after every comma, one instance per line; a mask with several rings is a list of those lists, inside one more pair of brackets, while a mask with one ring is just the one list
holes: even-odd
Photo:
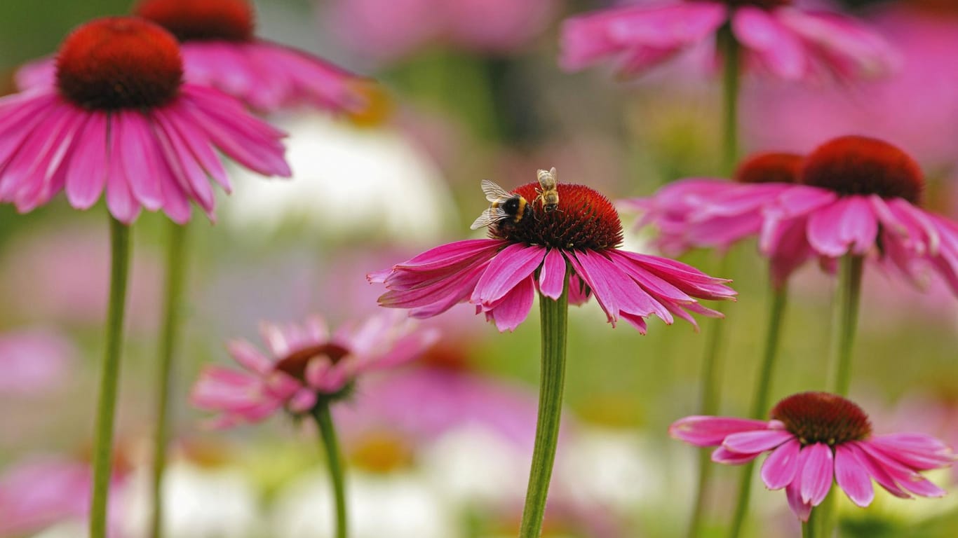
[[255, 26], [246, 0], [144, 0], [134, 11], [180, 41], [249, 41]]

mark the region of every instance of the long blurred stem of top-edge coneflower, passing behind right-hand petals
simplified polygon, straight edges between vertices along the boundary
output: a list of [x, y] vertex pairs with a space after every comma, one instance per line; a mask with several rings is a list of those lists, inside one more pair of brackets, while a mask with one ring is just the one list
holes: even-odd
[[[722, 54], [722, 140], [721, 171], [731, 175], [739, 156], [739, 86], [741, 82], [741, 46], [732, 34], [732, 26], [726, 23], [719, 29], [718, 46]], [[728, 256], [721, 266], [729, 265]], [[727, 274], [726, 271], [719, 273]], [[722, 305], [719, 305], [722, 311]], [[715, 320], [709, 324], [708, 341], [702, 361], [701, 415], [715, 415], [719, 410], [719, 353], [724, 342], [724, 324]], [[705, 510], [705, 492], [712, 478], [710, 450], [702, 449], [698, 456], [698, 484], [696, 504], [689, 523], [689, 538], [698, 536]]]

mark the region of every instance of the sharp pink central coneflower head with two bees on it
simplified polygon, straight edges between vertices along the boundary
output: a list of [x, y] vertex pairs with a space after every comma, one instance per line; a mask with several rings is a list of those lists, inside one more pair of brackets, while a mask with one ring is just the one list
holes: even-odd
[[698, 299], [734, 297], [724, 285], [728, 280], [618, 248], [619, 214], [599, 192], [559, 184], [559, 205], [546, 212], [538, 188], [530, 183], [512, 192], [525, 200], [525, 210], [491, 224], [490, 238], [442, 245], [370, 274], [371, 282], [389, 290], [379, 303], [427, 318], [468, 302], [500, 330], [512, 330], [528, 316], [536, 290], [559, 299], [567, 289], [570, 303], [584, 303], [594, 294], [609, 323], [622, 318], [645, 332], [650, 315], [667, 324], [673, 316], [695, 324], [689, 312], [720, 316]]

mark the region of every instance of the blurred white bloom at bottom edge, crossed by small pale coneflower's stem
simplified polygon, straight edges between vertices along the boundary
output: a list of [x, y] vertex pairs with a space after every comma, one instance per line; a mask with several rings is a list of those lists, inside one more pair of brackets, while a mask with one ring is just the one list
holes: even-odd
[[[454, 538], [459, 535], [440, 492], [416, 473], [373, 475], [347, 469], [346, 496], [353, 538]], [[277, 538], [332, 536], [328, 475], [315, 471], [283, 489], [274, 504]]]

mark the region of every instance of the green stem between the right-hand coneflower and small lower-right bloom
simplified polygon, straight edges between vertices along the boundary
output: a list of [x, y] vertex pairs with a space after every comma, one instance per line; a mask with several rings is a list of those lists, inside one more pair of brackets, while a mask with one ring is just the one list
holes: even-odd
[[847, 396], [852, 385], [852, 351], [858, 327], [858, 305], [861, 297], [861, 274], [864, 258], [846, 255], [841, 263], [839, 295], [838, 350], [834, 370], [834, 391]]

